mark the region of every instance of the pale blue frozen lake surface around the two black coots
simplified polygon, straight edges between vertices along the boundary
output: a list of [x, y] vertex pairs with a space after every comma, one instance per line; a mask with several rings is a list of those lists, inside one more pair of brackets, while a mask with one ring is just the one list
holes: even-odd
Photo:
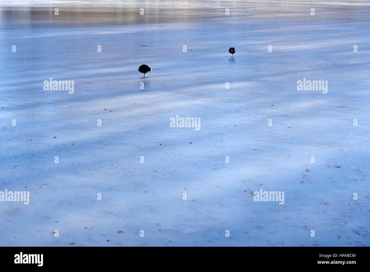
[[368, 1], [0, 7], [0, 245], [370, 245]]

